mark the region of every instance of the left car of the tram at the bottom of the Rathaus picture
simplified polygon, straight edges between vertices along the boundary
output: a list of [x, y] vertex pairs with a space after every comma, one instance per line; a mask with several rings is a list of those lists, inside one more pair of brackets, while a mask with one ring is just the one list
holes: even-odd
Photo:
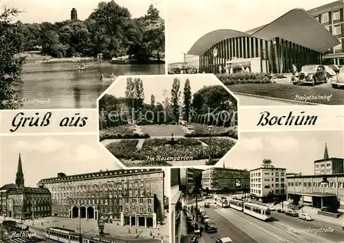
[[82, 242], [81, 235], [71, 229], [60, 227], [50, 227], [45, 229], [45, 237], [56, 242], [64, 243], [80, 243]]

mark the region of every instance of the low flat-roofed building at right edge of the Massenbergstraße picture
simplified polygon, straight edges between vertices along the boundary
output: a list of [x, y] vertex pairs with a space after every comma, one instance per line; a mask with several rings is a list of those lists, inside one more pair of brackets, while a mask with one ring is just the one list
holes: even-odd
[[288, 176], [287, 180], [288, 198], [300, 205], [323, 209], [339, 200], [344, 209], [344, 174]]

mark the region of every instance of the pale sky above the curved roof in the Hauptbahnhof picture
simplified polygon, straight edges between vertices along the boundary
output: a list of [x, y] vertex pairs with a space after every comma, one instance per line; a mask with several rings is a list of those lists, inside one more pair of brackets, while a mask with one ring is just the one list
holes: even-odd
[[294, 8], [310, 10], [335, 0], [173, 0], [167, 1], [166, 61], [182, 62], [183, 53], [204, 34], [220, 29], [245, 32]]

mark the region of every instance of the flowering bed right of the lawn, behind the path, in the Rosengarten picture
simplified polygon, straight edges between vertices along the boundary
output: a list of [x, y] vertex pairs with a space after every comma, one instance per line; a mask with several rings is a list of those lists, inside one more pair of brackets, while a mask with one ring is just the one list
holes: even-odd
[[[184, 137], [209, 137], [209, 130], [206, 125], [203, 124], [191, 124], [188, 127], [193, 130], [190, 134], [184, 135]], [[233, 137], [237, 139], [237, 126], [222, 127], [213, 126], [211, 130], [211, 137]]]

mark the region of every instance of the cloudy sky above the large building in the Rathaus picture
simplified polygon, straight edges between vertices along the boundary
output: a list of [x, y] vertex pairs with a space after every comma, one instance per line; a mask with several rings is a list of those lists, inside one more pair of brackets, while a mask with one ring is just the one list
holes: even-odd
[[[56, 177], [58, 172], [68, 176], [120, 170], [114, 157], [97, 140], [96, 135], [1, 137], [0, 187], [15, 183], [19, 153], [26, 187], [37, 187], [41, 179]], [[168, 176], [165, 173], [165, 192], [169, 188]]]

